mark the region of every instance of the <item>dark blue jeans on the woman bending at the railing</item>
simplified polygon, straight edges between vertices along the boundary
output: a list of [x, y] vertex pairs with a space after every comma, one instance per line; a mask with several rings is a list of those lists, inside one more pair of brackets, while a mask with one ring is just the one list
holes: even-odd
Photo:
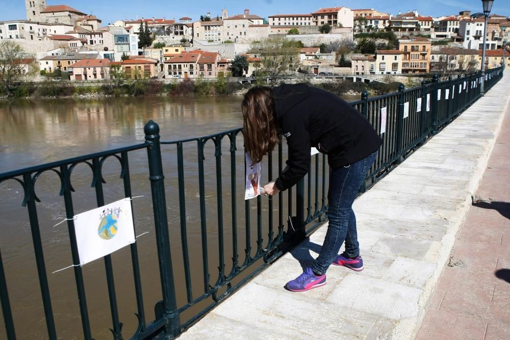
[[344, 241], [346, 256], [356, 257], [360, 254], [356, 216], [352, 211], [352, 203], [376, 155], [377, 151], [361, 161], [331, 171], [327, 193], [329, 224], [319, 257], [312, 266], [314, 273], [320, 275], [326, 273]]

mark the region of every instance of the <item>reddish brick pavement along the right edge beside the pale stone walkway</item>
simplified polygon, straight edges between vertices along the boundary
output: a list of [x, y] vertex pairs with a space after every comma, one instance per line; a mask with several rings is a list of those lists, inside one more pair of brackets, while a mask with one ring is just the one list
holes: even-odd
[[510, 339], [510, 108], [417, 339]]

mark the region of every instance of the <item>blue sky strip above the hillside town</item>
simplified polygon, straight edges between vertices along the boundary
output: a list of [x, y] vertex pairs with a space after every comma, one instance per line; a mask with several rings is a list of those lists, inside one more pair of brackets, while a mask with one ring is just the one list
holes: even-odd
[[[48, 5], [68, 5], [72, 8], [94, 14], [103, 20], [103, 24], [113, 23], [121, 19], [136, 19], [145, 17], [166, 17], [179, 20], [183, 16], [198, 20], [201, 14], [211, 12], [211, 16], [221, 15], [221, 9], [226, 8], [232, 16], [244, 12], [267, 17], [273, 14], [302, 14], [311, 13], [319, 8], [345, 6], [350, 9], [375, 8], [378, 11], [397, 15], [398, 12], [418, 10], [420, 15], [438, 17], [442, 15], [458, 14], [468, 10], [472, 13], [482, 11], [481, 0], [321, 0], [317, 6], [310, 0], [47, 0]], [[147, 6], [144, 6], [147, 4]], [[0, 21], [25, 19], [23, 0], [0, 0]], [[491, 13], [510, 16], [510, 0], [495, 0]]]

